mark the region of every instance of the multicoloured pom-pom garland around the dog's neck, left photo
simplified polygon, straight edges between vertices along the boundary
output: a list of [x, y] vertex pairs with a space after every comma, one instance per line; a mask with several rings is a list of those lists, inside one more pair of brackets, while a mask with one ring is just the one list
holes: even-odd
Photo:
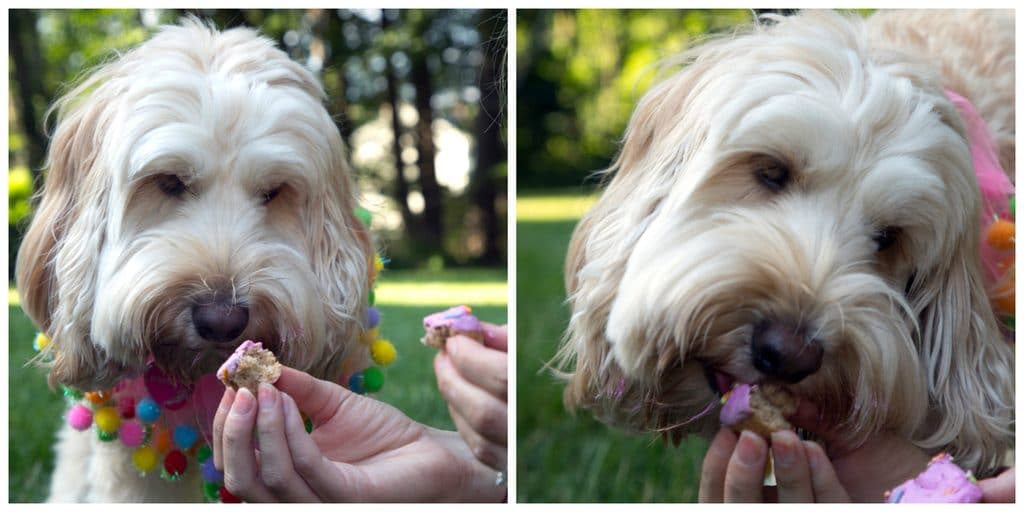
[[[354, 213], [369, 229], [370, 212], [357, 208]], [[370, 261], [369, 307], [364, 331], [358, 337], [380, 367], [387, 367], [397, 358], [394, 345], [380, 338], [381, 315], [374, 307], [374, 287], [386, 262], [378, 254]], [[43, 333], [33, 340], [33, 348], [47, 358], [52, 356], [49, 345], [50, 338]], [[380, 391], [384, 386], [384, 372], [378, 367], [355, 372], [349, 377], [347, 386], [359, 394]], [[142, 376], [124, 379], [112, 389], [83, 392], [63, 387], [62, 394], [69, 401], [68, 424], [78, 431], [91, 428], [101, 441], [120, 440], [133, 449], [131, 463], [140, 474], [159, 470], [162, 478], [176, 481], [188, 471], [196, 471], [191, 466], [198, 466], [207, 501], [241, 503], [224, 487], [224, 475], [213, 465], [212, 450], [197, 425], [193, 389], [175, 383], [157, 365], [151, 361]], [[312, 421], [305, 415], [303, 423], [306, 432], [312, 432]]]

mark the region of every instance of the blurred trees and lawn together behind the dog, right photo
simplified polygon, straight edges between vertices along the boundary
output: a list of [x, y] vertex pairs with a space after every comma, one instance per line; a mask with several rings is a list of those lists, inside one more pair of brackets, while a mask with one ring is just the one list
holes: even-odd
[[573, 416], [544, 365], [568, 324], [562, 262], [657, 62], [753, 10], [516, 14], [517, 494], [522, 502], [695, 502], [708, 442], [679, 447]]

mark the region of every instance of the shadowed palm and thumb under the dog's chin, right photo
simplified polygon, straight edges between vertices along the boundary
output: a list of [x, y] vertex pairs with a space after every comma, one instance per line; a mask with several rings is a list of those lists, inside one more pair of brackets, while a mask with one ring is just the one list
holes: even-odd
[[857, 503], [882, 502], [886, 490], [919, 475], [932, 459], [892, 432], [874, 434], [859, 445], [851, 444], [851, 437], [824, 421], [817, 407], [808, 401], [801, 401], [791, 421], [821, 439], [840, 482]]

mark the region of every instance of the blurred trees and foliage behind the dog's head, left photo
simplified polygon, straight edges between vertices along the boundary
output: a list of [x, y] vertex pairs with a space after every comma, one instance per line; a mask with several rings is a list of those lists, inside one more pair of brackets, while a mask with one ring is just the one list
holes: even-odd
[[[504, 261], [504, 229], [496, 231], [478, 219], [487, 216], [481, 212], [505, 215], [506, 176], [493, 162], [506, 160], [506, 124], [481, 124], [477, 117], [495, 116], [481, 108], [482, 91], [490, 87], [481, 77], [490, 59], [500, 58], [504, 66], [504, 46], [496, 50], [489, 42], [496, 31], [504, 33], [506, 19], [504, 11], [468, 9], [12, 9], [11, 261], [31, 210], [29, 198], [43, 180], [47, 106], [88, 70], [184, 15], [221, 29], [257, 28], [319, 76], [327, 108], [350, 154], [369, 155], [353, 158], [357, 182], [395, 266]], [[497, 27], [485, 23], [496, 16]], [[490, 54], [495, 51], [501, 54]], [[389, 87], [394, 94], [388, 94]], [[398, 113], [398, 123], [388, 129], [383, 120], [392, 112]], [[498, 146], [490, 142], [495, 136]], [[487, 143], [480, 143], [481, 137]], [[456, 174], [462, 175], [444, 168], [431, 182], [434, 159], [425, 151], [431, 146], [438, 159], [456, 154]], [[478, 161], [486, 165], [477, 166]], [[393, 191], [399, 180], [401, 195]], [[501, 194], [481, 200], [467, 186], [470, 181], [490, 183]], [[497, 257], [490, 252], [496, 247]]]

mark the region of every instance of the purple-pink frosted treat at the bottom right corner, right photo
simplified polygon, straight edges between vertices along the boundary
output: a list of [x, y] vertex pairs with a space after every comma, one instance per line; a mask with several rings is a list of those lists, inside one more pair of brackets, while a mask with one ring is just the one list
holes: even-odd
[[928, 469], [885, 494], [886, 503], [978, 503], [981, 487], [974, 475], [953, 464], [949, 454], [939, 454]]

